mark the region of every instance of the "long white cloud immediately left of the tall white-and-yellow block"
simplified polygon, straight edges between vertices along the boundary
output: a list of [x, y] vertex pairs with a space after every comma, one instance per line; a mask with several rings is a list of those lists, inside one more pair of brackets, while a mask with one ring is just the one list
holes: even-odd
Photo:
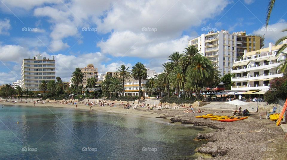
[[146, 37], [131, 31], [114, 32], [106, 41], [97, 43], [103, 53], [121, 58], [122, 56], [140, 58], [160, 58], [172, 52], [181, 51], [187, 46], [189, 36], [175, 40], [161, 41], [157, 38]]

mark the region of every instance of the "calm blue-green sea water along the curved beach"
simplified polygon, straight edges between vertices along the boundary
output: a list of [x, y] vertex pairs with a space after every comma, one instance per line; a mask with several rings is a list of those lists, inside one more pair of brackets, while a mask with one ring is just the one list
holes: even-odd
[[212, 131], [74, 108], [0, 105], [0, 118], [0, 159], [193, 159]]

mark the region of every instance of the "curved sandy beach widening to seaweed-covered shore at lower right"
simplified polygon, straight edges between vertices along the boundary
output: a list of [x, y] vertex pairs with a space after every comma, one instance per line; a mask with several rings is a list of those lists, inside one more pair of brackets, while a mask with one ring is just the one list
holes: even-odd
[[[0, 102], [2, 105], [34, 106], [33, 103]], [[35, 107], [63, 107], [75, 109], [75, 105], [59, 103], [36, 103]], [[229, 115], [233, 113], [224, 110], [224, 113], [216, 113], [216, 109], [208, 109], [203, 113], [184, 113], [186, 108], [177, 110], [147, 110], [146, 108], [124, 109], [123, 105], [92, 106], [92, 111], [109, 112], [114, 114], [126, 114], [127, 116], [147, 117], [152, 121], [161, 119], [164, 123], [190, 124], [194, 126], [207, 126], [216, 129], [215, 132], [198, 135], [198, 141], [208, 140], [197, 148], [198, 159], [286, 159], [287, 140], [286, 133], [274, 121], [259, 119], [259, 113], [250, 112], [248, 119], [235, 122], [219, 122], [209, 119], [195, 118], [203, 114]], [[195, 108], [196, 109], [196, 108]], [[77, 104], [77, 110], [90, 110], [90, 106], [83, 103]], [[205, 155], [207, 154], [207, 155]], [[252, 157], [252, 158], [251, 158]]]

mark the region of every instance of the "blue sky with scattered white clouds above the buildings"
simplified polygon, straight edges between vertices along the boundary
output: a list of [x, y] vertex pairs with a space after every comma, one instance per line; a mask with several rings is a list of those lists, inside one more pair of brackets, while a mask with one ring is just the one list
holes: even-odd
[[[142, 62], [161, 72], [172, 52], [207, 31], [265, 34], [265, 45], [286, 35], [287, 1], [276, 1], [264, 31], [268, 0], [125, 1], [2, 0], [0, 84], [20, 79], [23, 58], [56, 58], [56, 75], [69, 80], [92, 63], [100, 73]], [[146, 29], [146, 30], [145, 30]]]

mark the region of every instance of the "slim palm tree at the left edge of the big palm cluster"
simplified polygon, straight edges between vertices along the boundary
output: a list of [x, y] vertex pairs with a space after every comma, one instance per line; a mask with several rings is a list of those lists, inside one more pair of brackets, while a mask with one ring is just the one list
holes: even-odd
[[170, 97], [170, 75], [172, 72], [172, 64], [164, 63], [162, 66], [164, 71], [158, 76], [156, 86], [166, 90], [167, 96]]

